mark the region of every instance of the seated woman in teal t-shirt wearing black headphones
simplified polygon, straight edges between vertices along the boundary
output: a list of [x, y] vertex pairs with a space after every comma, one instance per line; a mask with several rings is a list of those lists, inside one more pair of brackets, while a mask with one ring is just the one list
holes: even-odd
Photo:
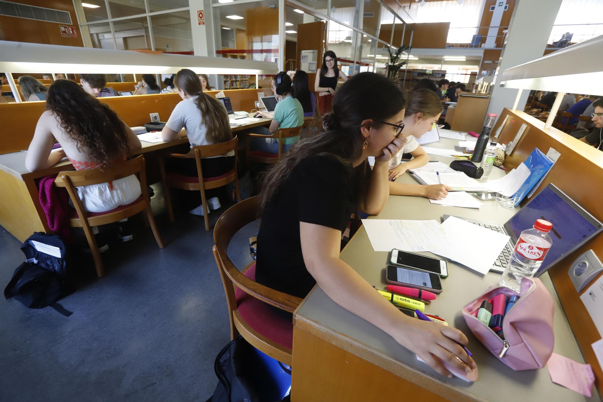
[[[272, 79], [272, 91], [276, 95], [279, 103], [276, 104], [273, 113], [257, 112], [256, 117], [262, 116], [272, 119], [270, 127], [256, 127], [251, 129], [251, 133], [273, 135], [279, 129], [289, 129], [291, 127], [300, 127], [303, 125], [303, 107], [301, 103], [291, 96], [293, 87], [291, 78], [285, 71], [279, 72]], [[299, 136], [284, 138], [283, 151], [289, 150], [291, 145], [300, 140]], [[262, 151], [268, 153], [279, 152], [279, 142], [276, 138], [251, 138], [249, 142], [250, 150]]]

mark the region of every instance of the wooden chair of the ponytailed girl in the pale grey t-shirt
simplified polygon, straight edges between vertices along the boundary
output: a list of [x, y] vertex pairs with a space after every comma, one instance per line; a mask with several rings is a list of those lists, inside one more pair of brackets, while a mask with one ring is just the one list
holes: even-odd
[[[163, 190], [165, 191], [165, 203], [168, 208], [168, 215], [170, 222], [174, 222], [174, 211], [172, 209], [172, 200], [169, 196], [169, 188], [180, 188], [180, 190], [191, 190], [199, 191], [201, 193], [201, 202], [203, 205], [203, 220], [205, 221], [205, 230], [209, 231], [209, 219], [207, 219], [207, 199], [205, 196], [205, 190], [212, 188], [218, 188], [227, 185], [228, 183], [235, 182], [236, 199], [241, 199], [241, 193], [239, 193], [239, 177], [237, 170], [237, 159], [239, 153], [239, 138], [235, 138], [220, 142], [219, 144], [211, 145], [198, 145], [192, 147], [192, 149], [186, 153], [167, 153], [159, 158], [159, 170], [161, 171], [161, 180], [163, 183]], [[235, 166], [233, 170], [216, 177], [204, 177], [203, 169], [201, 168], [201, 158], [208, 158], [209, 156], [224, 155], [231, 151], [235, 152]], [[165, 172], [165, 158], [177, 158], [177, 159], [195, 159], [197, 162], [197, 176], [185, 176], [180, 173], [166, 173]]]

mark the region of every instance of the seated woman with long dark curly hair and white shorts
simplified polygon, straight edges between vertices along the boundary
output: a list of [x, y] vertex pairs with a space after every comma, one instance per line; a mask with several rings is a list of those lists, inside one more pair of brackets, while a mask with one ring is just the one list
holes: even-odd
[[[76, 170], [86, 170], [125, 161], [133, 150], [140, 149], [140, 140], [117, 113], [91, 97], [81, 86], [69, 80], [57, 80], [48, 89], [46, 112], [40, 116], [34, 138], [25, 156], [29, 171], [45, 170], [67, 156]], [[62, 149], [51, 152], [57, 141]], [[140, 197], [136, 175], [77, 187], [78, 195], [89, 212], [104, 212], [127, 205]], [[133, 238], [126, 220], [120, 222], [118, 236], [122, 241]], [[92, 228], [98, 249], [109, 249]]]

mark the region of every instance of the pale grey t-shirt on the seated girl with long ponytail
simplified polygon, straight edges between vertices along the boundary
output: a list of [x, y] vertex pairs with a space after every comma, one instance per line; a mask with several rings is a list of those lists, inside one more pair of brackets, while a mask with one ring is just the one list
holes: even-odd
[[[174, 107], [174, 110], [172, 110], [172, 114], [169, 115], [168, 122], [165, 123], [165, 126], [168, 127], [168, 129], [174, 130], [175, 132], [180, 132], [182, 127], [184, 127], [191, 147], [195, 147], [196, 145], [210, 145], [206, 138], [207, 128], [201, 118], [201, 112], [195, 103], [197, 98], [198, 96], [180, 101], [176, 107]], [[221, 156], [235, 156], [235, 152], [231, 151], [226, 155]]]

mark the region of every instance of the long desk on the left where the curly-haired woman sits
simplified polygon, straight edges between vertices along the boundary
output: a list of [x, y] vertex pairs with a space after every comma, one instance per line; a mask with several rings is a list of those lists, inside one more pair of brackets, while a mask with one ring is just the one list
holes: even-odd
[[[233, 133], [242, 133], [244, 130], [258, 126], [267, 126], [269, 119], [260, 119], [245, 126], [231, 127]], [[133, 156], [145, 154], [145, 159], [154, 158], [157, 152], [166, 148], [188, 144], [188, 138], [178, 138], [175, 141], [160, 141], [154, 144], [140, 141], [142, 148], [132, 153]], [[25, 168], [24, 152], [13, 152], [0, 155], [0, 225], [10, 232], [19, 241], [25, 241], [33, 232], [49, 232], [46, 223], [46, 214], [39, 202], [39, 191], [36, 179], [57, 174], [63, 170], [72, 170], [74, 167], [68, 159], [51, 168], [31, 173]], [[157, 168], [157, 164], [147, 162], [147, 170]], [[153, 175], [148, 175], [153, 177]], [[155, 177], [159, 177], [157, 174]], [[154, 180], [148, 180], [151, 184]]]

